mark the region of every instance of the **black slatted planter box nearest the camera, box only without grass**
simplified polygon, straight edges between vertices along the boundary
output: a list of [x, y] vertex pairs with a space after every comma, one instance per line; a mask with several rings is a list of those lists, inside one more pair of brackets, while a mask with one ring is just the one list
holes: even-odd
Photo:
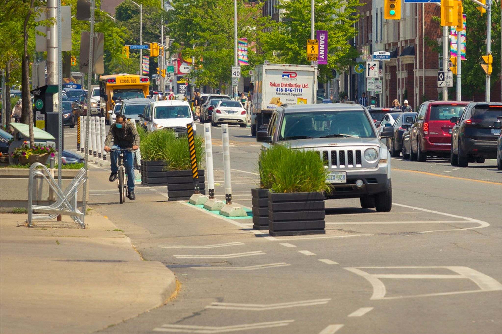
[[272, 236], [325, 234], [324, 194], [269, 192], [269, 232]]

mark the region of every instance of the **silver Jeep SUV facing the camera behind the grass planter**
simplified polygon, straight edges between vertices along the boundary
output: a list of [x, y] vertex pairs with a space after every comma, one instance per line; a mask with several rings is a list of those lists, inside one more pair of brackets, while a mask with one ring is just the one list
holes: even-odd
[[262, 149], [286, 144], [319, 152], [332, 191], [326, 198], [360, 198], [361, 207], [391, 211], [391, 157], [366, 108], [357, 104], [282, 106], [274, 111], [267, 131], [258, 131]]

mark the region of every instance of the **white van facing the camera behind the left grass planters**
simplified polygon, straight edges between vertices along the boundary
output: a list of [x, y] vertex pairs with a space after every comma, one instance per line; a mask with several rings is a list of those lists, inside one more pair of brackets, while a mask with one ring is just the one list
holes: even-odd
[[155, 101], [145, 108], [145, 113], [140, 121], [148, 132], [171, 129], [177, 134], [186, 133], [189, 123], [192, 124], [194, 134], [197, 130], [187, 101]]

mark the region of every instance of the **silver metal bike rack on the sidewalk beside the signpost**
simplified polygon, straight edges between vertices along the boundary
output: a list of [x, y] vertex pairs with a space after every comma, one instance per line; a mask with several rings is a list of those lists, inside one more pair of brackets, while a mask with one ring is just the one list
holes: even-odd
[[[69, 215], [74, 222], [79, 223], [81, 227], [85, 228], [85, 215], [77, 209], [77, 193], [85, 182], [85, 174], [85, 168], [81, 168], [63, 191], [46, 166], [39, 162], [32, 164], [28, 181], [28, 226], [32, 226], [33, 220], [52, 220], [58, 215]], [[40, 176], [49, 183], [49, 186], [57, 196], [57, 200], [54, 203], [50, 205], [33, 205], [33, 179], [36, 176]], [[40, 213], [34, 213], [35, 211]]]

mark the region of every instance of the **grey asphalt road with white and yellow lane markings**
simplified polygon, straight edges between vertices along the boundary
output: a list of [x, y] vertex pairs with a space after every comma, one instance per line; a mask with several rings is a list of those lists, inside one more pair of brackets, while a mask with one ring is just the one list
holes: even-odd
[[[250, 207], [260, 145], [249, 128], [231, 126], [230, 135], [233, 200]], [[220, 127], [212, 137], [223, 198]], [[167, 202], [166, 187], [138, 186], [137, 200], [120, 205], [109, 171], [92, 168], [91, 207], [181, 283], [175, 299], [100, 332], [500, 333], [495, 161], [457, 168], [393, 158], [392, 166], [391, 212], [329, 200], [325, 235], [275, 238], [253, 232], [250, 219]]]

